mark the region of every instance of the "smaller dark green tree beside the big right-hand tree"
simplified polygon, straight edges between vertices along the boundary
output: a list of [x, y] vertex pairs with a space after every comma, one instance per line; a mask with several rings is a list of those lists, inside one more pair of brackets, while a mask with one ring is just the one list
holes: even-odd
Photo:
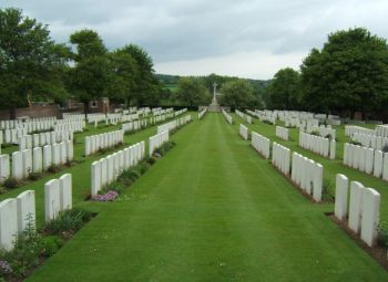
[[268, 106], [276, 109], [300, 109], [299, 76], [299, 73], [290, 67], [278, 71], [267, 87]]

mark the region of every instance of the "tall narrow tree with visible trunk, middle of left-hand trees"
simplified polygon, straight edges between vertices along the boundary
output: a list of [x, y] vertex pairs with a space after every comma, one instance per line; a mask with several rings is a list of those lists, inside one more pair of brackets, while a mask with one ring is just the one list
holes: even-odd
[[69, 86], [72, 93], [84, 104], [89, 113], [89, 102], [108, 94], [109, 60], [106, 49], [95, 31], [81, 30], [70, 35], [75, 45], [75, 62], [70, 72]]

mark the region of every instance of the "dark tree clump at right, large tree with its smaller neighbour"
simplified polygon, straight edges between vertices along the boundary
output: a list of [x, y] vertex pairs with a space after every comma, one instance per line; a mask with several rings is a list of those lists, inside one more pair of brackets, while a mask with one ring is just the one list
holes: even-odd
[[328, 35], [300, 70], [283, 69], [264, 92], [267, 108], [319, 113], [387, 113], [388, 45], [363, 28]]

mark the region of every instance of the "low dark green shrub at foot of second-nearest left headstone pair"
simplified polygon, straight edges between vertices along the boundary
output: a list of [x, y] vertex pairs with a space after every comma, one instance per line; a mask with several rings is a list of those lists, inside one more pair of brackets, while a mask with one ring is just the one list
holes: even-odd
[[62, 238], [68, 238], [80, 230], [90, 217], [90, 212], [80, 208], [65, 210], [61, 212], [58, 218], [48, 222], [44, 230], [49, 234], [58, 234]]

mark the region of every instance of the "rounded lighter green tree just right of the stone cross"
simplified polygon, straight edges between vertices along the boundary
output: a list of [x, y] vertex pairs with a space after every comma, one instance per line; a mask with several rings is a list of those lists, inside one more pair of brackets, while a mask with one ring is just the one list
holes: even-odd
[[252, 107], [256, 104], [256, 97], [249, 82], [246, 80], [233, 80], [221, 87], [221, 104], [234, 108]]

